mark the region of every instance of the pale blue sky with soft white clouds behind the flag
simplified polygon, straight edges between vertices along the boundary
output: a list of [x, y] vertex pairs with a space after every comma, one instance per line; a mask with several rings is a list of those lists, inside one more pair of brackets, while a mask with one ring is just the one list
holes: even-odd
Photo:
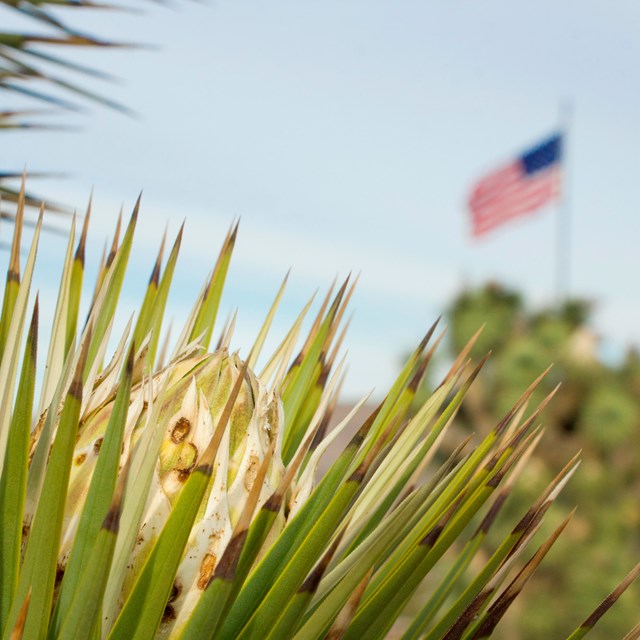
[[[96, 253], [120, 203], [130, 210], [144, 189], [126, 308], [165, 225], [175, 233], [186, 217], [170, 307], [184, 317], [240, 216], [223, 309], [240, 308], [236, 346], [248, 347], [289, 267], [276, 335], [316, 287], [361, 270], [346, 390], [382, 392], [463, 282], [552, 300], [553, 211], [473, 242], [465, 200], [486, 170], [554, 130], [570, 100], [571, 290], [597, 302], [608, 352], [640, 341], [637, 1], [209, 0], [88, 13], [91, 32], [162, 45], [82, 55], [122, 79], [92, 86], [140, 117], [96, 108], [63, 119], [78, 133], [3, 135], [2, 166], [72, 174], [37, 188], [79, 208], [93, 187]], [[48, 253], [63, 250], [47, 238]]]

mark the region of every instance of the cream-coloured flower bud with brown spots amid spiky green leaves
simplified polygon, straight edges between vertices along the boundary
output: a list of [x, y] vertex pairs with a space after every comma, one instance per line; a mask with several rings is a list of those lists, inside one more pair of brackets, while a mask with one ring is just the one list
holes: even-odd
[[[142, 524], [131, 551], [124, 577], [121, 604], [134, 584], [141, 565], [171, 513], [173, 504], [199, 458], [209, 444], [214, 425], [220, 420], [242, 362], [226, 349], [196, 353], [179, 359], [175, 366], [142, 378], [131, 391], [131, 401], [120, 460], [122, 470], [148, 429], [163, 432], [157, 464], [145, 505]], [[89, 397], [71, 469], [64, 529], [58, 559], [62, 577], [82, 512], [93, 468], [100, 453], [105, 430], [113, 410], [113, 385], [107, 376], [94, 389], [96, 398], [106, 396], [100, 406]], [[150, 421], [149, 399], [160, 407], [158, 424]], [[274, 452], [260, 490], [261, 505], [282, 480], [282, 403], [247, 369], [218, 449], [207, 494], [192, 527], [174, 587], [163, 616], [160, 635], [181, 626], [207, 585], [233, 531], [267, 450]]]

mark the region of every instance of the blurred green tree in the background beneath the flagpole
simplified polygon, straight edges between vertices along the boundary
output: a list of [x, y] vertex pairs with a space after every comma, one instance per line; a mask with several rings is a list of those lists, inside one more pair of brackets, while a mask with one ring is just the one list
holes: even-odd
[[[517, 513], [520, 500], [533, 498], [562, 461], [582, 449], [581, 467], [559, 500], [565, 510], [579, 505], [575, 520], [525, 590], [513, 624], [497, 636], [505, 640], [562, 637], [571, 626], [566, 613], [594, 605], [640, 555], [640, 354], [633, 349], [619, 365], [603, 363], [591, 313], [585, 300], [532, 311], [521, 294], [496, 283], [462, 291], [447, 311], [451, 354], [482, 324], [471, 355], [492, 352], [457, 428], [486, 433], [550, 363], [531, 406], [561, 383], [540, 418], [544, 451], [507, 508]], [[594, 629], [594, 640], [622, 637], [635, 622], [639, 599], [634, 586], [616, 615]]]

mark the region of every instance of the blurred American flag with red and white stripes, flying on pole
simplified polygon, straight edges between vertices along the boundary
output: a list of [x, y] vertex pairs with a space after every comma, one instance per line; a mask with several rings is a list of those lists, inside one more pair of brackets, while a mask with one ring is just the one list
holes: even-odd
[[469, 197], [473, 235], [557, 199], [561, 160], [562, 136], [555, 134], [477, 182]]

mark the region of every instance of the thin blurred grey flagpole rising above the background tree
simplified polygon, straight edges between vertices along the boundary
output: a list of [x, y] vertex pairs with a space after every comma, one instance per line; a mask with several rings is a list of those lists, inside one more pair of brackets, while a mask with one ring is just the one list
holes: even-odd
[[556, 302], [569, 298], [571, 276], [571, 210], [569, 201], [569, 162], [567, 149], [572, 116], [572, 105], [560, 105], [560, 171], [558, 172], [558, 200], [556, 206]]

